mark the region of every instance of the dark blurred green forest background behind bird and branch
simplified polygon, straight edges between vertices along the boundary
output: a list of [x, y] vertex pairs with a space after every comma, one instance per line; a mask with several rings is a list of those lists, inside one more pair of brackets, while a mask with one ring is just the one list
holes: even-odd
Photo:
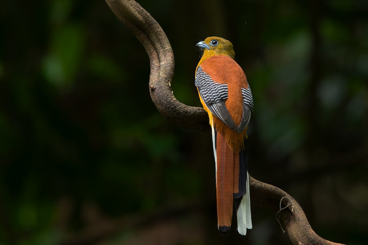
[[[368, 2], [140, 0], [166, 32], [176, 98], [199, 106], [195, 44], [231, 40], [254, 96], [250, 173], [321, 237], [368, 241]], [[103, 0], [0, 4], [0, 244], [291, 244], [252, 206], [217, 231], [208, 132], [165, 120], [149, 59]]]

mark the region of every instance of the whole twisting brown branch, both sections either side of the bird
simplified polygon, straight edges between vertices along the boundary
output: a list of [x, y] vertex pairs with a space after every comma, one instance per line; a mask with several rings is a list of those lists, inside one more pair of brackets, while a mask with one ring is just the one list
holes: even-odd
[[[173, 95], [171, 79], [174, 72], [174, 55], [160, 25], [133, 0], [106, 0], [106, 3], [148, 53], [151, 64], [149, 90], [159, 112], [178, 126], [208, 130], [208, 116], [204, 109], [185, 105]], [[280, 222], [293, 244], [339, 245], [319, 237], [312, 230], [300, 205], [285, 191], [252, 177], [250, 189], [253, 205], [280, 211]], [[280, 202], [286, 208], [280, 210]]]

